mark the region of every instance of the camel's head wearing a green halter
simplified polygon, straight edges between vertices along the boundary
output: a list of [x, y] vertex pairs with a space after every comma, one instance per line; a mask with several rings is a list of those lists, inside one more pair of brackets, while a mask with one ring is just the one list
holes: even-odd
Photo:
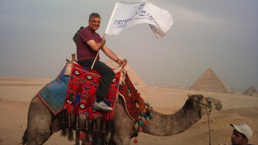
[[207, 110], [221, 110], [222, 104], [220, 100], [210, 97], [204, 97], [203, 95], [190, 95], [188, 94], [188, 98], [196, 104], [199, 104], [202, 108], [202, 113], [207, 112]]

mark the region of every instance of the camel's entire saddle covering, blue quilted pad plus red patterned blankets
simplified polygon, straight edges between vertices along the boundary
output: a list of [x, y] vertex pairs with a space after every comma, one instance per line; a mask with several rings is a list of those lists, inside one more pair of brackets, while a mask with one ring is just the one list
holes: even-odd
[[[65, 69], [67, 67], [69, 69]], [[116, 75], [109, 92], [105, 96], [105, 102], [108, 106], [114, 108], [119, 94], [124, 100], [126, 112], [135, 121], [141, 112], [144, 112], [148, 103], [146, 104], [140, 97], [140, 93], [134, 88], [126, 70], [120, 69], [120, 67], [118, 69], [114, 70]], [[113, 111], [107, 113], [100, 110], [95, 111], [91, 108], [93, 102], [97, 99], [96, 90], [100, 81], [101, 76], [97, 71], [71, 62], [62, 69], [56, 80], [42, 88], [38, 95], [54, 115], [62, 109], [66, 109], [69, 114], [71, 112], [75, 115], [85, 114], [89, 119], [102, 117], [104, 114], [104, 120], [111, 120]], [[149, 115], [148, 112], [147, 115]]]

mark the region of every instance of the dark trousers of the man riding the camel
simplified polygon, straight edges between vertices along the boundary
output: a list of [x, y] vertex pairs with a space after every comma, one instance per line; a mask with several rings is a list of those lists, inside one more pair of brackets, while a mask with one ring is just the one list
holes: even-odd
[[[82, 65], [84, 67], [91, 68], [91, 65], [93, 63], [94, 59], [85, 59], [78, 61], [79, 65]], [[99, 61], [96, 59], [93, 70], [99, 72], [101, 75], [101, 80], [99, 84], [99, 88], [97, 88], [97, 102], [101, 102], [104, 100], [105, 96], [107, 95], [107, 92], [110, 89], [110, 85], [115, 77], [115, 72], [108, 67], [105, 63]]]

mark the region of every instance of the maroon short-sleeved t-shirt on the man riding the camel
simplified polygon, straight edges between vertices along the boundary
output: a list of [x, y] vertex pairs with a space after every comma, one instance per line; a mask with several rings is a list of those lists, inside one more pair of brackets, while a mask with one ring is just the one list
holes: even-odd
[[[91, 31], [88, 27], [81, 29], [77, 39], [77, 61], [84, 59], [95, 58], [97, 51], [91, 49], [91, 47], [86, 43], [89, 40], [94, 40], [96, 43], [100, 42], [101, 37], [98, 33]], [[99, 60], [99, 55], [97, 57]]]

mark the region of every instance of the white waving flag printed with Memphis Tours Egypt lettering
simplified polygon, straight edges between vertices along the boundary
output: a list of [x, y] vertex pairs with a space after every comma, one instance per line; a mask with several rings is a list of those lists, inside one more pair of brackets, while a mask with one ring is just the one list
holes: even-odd
[[117, 2], [105, 34], [117, 35], [124, 29], [140, 23], [148, 23], [157, 38], [163, 37], [173, 25], [170, 13], [146, 0]]

